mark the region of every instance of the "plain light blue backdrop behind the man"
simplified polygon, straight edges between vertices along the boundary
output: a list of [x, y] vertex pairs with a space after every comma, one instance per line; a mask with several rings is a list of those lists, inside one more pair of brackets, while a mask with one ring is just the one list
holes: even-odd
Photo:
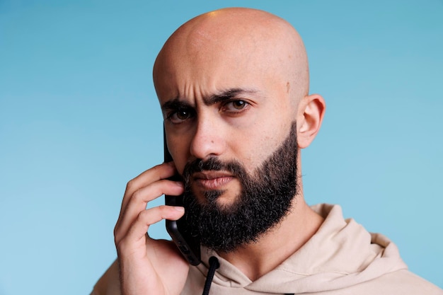
[[307, 202], [341, 204], [443, 287], [443, 1], [0, 0], [0, 294], [91, 291], [127, 181], [162, 161], [156, 53], [226, 6], [304, 38], [328, 104], [302, 154]]

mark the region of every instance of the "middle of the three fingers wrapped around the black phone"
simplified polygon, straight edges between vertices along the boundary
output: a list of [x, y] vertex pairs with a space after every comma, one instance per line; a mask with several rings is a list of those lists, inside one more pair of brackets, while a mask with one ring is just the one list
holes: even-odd
[[117, 221], [115, 233], [118, 234], [117, 231], [128, 231], [134, 219], [137, 218], [137, 215], [146, 210], [146, 204], [149, 201], [163, 194], [180, 195], [183, 193], [183, 190], [183, 183], [171, 180], [160, 180], [137, 190], [127, 202], [127, 207], [122, 209], [122, 213]]

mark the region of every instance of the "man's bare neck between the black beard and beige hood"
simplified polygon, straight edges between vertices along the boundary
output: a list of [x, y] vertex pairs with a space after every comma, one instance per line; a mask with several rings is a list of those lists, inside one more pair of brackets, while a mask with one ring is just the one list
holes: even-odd
[[303, 196], [296, 196], [289, 214], [258, 242], [219, 255], [255, 281], [299, 250], [322, 223], [323, 217], [313, 212]]

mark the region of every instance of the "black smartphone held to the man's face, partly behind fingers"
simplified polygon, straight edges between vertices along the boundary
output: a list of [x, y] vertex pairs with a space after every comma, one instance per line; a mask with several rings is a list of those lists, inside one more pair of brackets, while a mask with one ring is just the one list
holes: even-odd
[[[171, 154], [169, 154], [168, 146], [166, 144], [166, 134], [163, 128], [163, 146], [165, 153], [165, 162], [173, 161]], [[174, 175], [170, 180], [180, 180], [178, 175]], [[169, 196], [165, 195], [165, 204], [169, 206], [182, 206], [183, 207], [183, 195]], [[176, 243], [180, 252], [185, 256], [190, 265], [200, 264], [200, 239], [197, 236], [192, 236], [190, 232], [186, 230], [185, 216], [175, 220], [166, 219], [166, 231], [171, 236], [172, 241]]]

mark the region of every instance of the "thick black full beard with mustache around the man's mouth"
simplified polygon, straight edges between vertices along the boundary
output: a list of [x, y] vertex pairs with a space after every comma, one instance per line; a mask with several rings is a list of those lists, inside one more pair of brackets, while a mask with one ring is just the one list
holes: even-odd
[[[197, 200], [190, 187], [190, 176], [203, 170], [226, 170], [241, 183], [242, 191], [236, 201], [217, 204], [221, 190], [205, 192], [204, 204]], [[255, 169], [246, 173], [237, 161], [222, 162], [217, 158], [197, 159], [183, 170], [185, 183], [185, 224], [200, 243], [217, 252], [229, 253], [236, 248], [257, 242], [260, 236], [280, 223], [297, 195], [297, 128], [281, 146]]]

